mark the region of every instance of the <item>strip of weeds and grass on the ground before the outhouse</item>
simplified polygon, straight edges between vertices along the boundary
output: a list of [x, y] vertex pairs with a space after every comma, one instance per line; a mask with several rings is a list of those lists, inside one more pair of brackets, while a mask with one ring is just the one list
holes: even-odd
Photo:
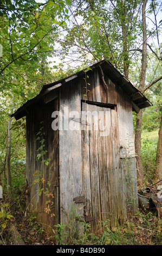
[[[8, 227], [11, 216], [14, 217], [13, 211], [14, 208], [11, 211], [9, 204], [5, 207], [4, 202], [1, 202], [0, 212], [4, 212], [1, 214], [3, 217], [0, 217], [1, 245], [10, 245]], [[8, 220], [6, 226], [5, 220]], [[70, 223], [55, 225], [56, 233], [53, 236], [44, 231], [43, 223], [38, 223], [35, 217], [24, 218], [22, 222], [23, 227], [28, 228], [30, 226], [30, 231], [27, 231], [28, 237], [25, 239], [27, 245], [35, 245], [36, 241], [43, 245], [46, 240], [50, 240], [51, 244], [58, 245], [162, 245], [162, 220], [150, 211], [139, 210], [131, 220], [125, 221], [118, 227], [110, 227], [109, 220], [103, 221], [102, 231], [99, 235], [92, 233], [90, 223], [84, 221], [82, 221], [82, 228], [76, 229], [77, 224], [81, 224], [81, 222], [74, 212]], [[18, 226], [21, 229], [20, 224]], [[64, 242], [67, 237], [69, 239]]]

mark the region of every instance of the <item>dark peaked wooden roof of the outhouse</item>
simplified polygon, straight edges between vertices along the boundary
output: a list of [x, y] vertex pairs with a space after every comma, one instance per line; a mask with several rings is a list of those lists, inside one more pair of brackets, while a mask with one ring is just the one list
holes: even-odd
[[[152, 106], [152, 103], [137, 88], [135, 88], [133, 84], [127, 80], [127, 78], [122, 75], [108, 60], [101, 60], [100, 62], [90, 66], [86, 71], [94, 70], [99, 66], [101, 67], [103, 74], [106, 74], [114, 84], [120, 86], [131, 97], [133, 111], [138, 113], [140, 109]], [[17, 111], [11, 116], [15, 117], [16, 120], [24, 117], [28, 113], [28, 108], [37, 103], [44, 95], [50, 93], [53, 90], [56, 90], [60, 86], [68, 83], [70, 80], [74, 80], [83, 74], [85, 74], [85, 70], [76, 72], [75, 74], [62, 78], [61, 80], [54, 83], [45, 84], [37, 96], [24, 103], [24, 105], [18, 108]]]

